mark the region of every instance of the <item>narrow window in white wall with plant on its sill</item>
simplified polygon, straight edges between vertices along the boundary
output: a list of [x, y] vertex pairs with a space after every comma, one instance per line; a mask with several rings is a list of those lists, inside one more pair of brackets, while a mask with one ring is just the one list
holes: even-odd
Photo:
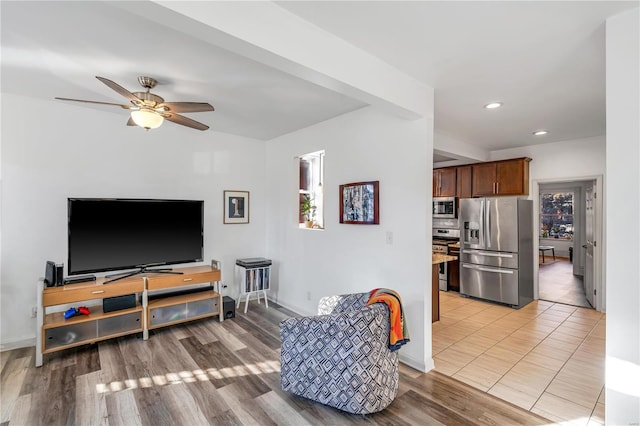
[[324, 151], [299, 157], [298, 223], [301, 228], [324, 228]]

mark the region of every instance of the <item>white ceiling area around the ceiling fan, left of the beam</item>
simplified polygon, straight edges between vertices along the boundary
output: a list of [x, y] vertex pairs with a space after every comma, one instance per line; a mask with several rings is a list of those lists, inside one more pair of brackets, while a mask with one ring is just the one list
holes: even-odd
[[[1, 7], [3, 93], [127, 104], [95, 76], [133, 92], [143, 91], [137, 77], [147, 75], [158, 80], [152, 92], [166, 101], [209, 102], [215, 108], [185, 114], [190, 118], [216, 131], [264, 140], [364, 105], [114, 3], [2, 1]], [[120, 114], [123, 125], [128, 119], [117, 107], [76, 105]]]

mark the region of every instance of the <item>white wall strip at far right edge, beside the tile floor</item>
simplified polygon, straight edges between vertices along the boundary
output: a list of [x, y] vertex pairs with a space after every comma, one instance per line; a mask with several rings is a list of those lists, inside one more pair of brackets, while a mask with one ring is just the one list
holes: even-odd
[[[607, 20], [606, 423], [640, 423], [640, 13]], [[614, 250], [615, 248], [615, 250]]]

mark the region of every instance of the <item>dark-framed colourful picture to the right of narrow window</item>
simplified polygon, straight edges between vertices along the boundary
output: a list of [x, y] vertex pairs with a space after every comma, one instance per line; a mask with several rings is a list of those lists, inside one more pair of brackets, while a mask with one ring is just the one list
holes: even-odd
[[380, 181], [340, 185], [340, 223], [380, 224]]

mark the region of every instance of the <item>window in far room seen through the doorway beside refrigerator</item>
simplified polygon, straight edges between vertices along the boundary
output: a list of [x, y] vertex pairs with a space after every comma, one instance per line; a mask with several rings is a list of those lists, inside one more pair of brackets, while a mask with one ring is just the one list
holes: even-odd
[[541, 194], [541, 238], [573, 240], [573, 199], [573, 192]]

